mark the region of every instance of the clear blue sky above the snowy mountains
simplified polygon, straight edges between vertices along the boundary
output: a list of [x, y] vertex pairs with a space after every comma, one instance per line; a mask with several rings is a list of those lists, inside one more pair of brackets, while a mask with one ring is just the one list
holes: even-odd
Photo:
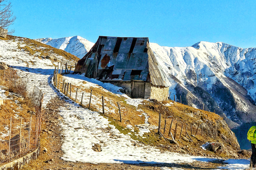
[[256, 1], [10, 0], [14, 36], [149, 37], [161, 46], [199, 41], [256, 47]]

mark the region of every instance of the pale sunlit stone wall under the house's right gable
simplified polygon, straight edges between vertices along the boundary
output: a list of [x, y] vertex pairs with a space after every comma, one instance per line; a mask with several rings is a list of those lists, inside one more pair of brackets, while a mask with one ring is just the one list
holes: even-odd
[[167, 100], [169, 95], [169, 87], [154, 86], [151, 84], [150, 99], [157, 99], [158, 101]]

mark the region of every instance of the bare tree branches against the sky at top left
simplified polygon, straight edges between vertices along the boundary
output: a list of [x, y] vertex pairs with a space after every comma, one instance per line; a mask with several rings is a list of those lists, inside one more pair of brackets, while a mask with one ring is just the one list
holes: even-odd
[[[8, 29], [9, 25], [13, 24], [16, 16], [13, 16], [11, 10], [11, 3], [7, 3], [6, 0], [0, 0], [0, 27]], [[14, 30], [11, 31], [12, 33]]]

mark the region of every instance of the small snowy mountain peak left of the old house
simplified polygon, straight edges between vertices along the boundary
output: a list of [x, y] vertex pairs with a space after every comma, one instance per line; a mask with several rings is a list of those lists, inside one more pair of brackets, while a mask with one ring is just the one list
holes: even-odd
[[58, 39], [39, 38], [35, 39], [46, 45], [65, 50], [66, 52], [82, 58], [92, 48], [94, 43], [80, 36], [64, 37]]

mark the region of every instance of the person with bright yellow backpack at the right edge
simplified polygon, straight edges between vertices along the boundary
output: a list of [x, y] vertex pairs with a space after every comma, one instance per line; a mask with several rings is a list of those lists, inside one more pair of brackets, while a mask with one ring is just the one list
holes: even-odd
[[250, 167], [256, 167], [256, 126], [252, 126], [247, 133], [247, 139], [251, 141], [252, 156]]

